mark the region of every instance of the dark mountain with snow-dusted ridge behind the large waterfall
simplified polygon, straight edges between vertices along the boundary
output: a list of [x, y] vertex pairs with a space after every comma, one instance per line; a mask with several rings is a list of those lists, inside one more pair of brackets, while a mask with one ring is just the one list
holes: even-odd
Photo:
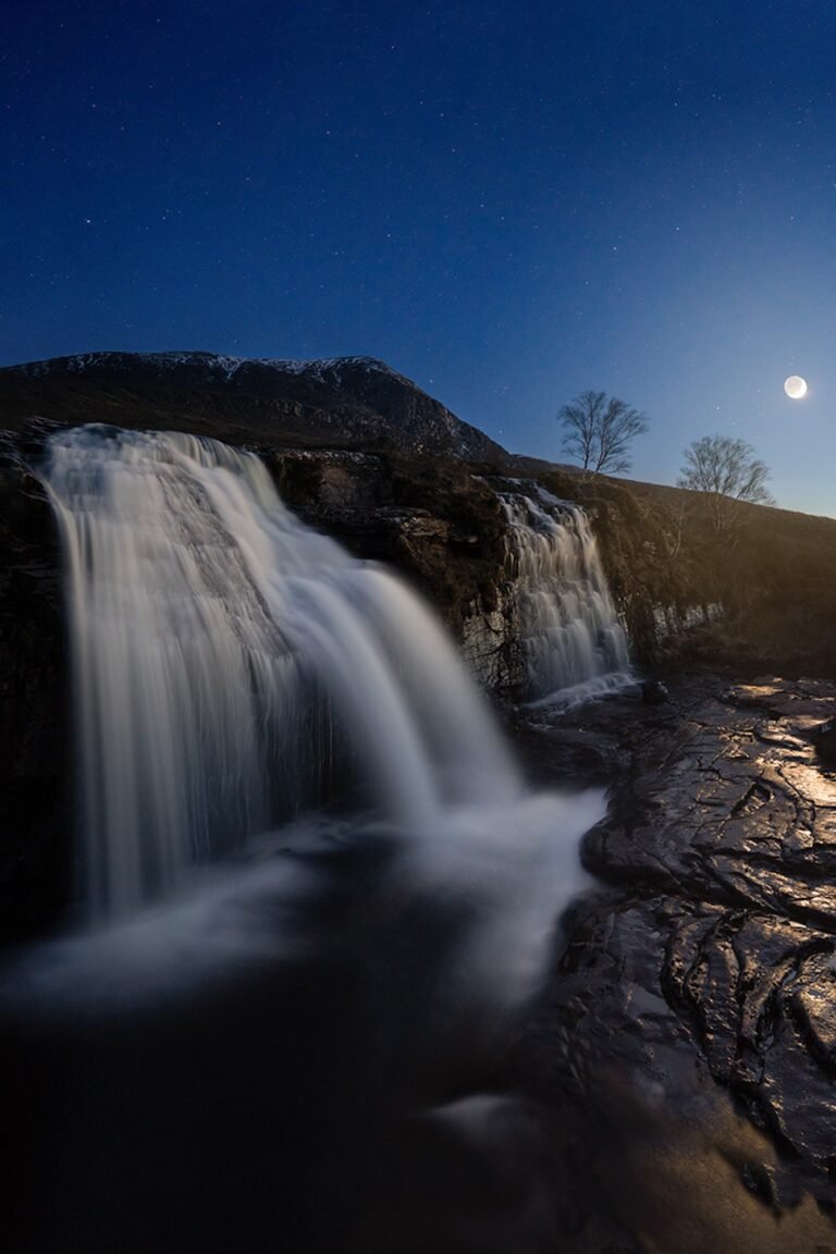
[[370, 356], [301, 361], [206, 351], [102, 351], [0, 367], [9, 421], [179, 426], [242, 439], [384, 443], [496, 468], [510, 454]]

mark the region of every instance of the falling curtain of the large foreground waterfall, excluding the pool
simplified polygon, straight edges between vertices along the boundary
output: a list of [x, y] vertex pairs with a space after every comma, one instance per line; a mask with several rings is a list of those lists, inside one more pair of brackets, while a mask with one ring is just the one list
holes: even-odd
[[94, 917], [165, 894], [335, 777], [412, 829], [518, 795], [429, 611], [295, 518], [257, 456], [86, 426], [53, 438], [44, 479], [69, 572]]

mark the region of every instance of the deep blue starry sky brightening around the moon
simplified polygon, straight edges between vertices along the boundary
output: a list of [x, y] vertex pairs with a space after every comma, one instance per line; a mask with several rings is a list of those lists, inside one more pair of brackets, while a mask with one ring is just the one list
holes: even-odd
[[556, 459], [603, 389], [637, 478], [729, 433], [836, 515], [830, 0], [29, 0], [1, 38], [0, 362], [368, 354]]

